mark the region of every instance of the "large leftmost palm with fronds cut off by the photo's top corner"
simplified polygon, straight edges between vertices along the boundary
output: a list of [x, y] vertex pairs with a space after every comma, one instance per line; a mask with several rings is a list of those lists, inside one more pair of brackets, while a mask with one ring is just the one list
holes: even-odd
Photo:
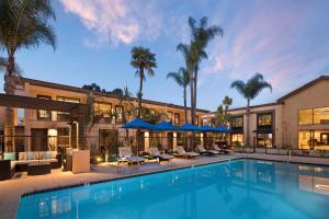
[[[15, 53], [22, 48], [37, 47], [42, 43], [56, 48], [56, 36], [49, 20], [55, 12], [49, 0], [0, 1], [0, 48], [7, 51], [4, 91], [14, 94], [19, 71], [15, 69]], [[14, 136], [14, 112], [7, 108], [5, 135]], [[7, 140], [8, 150], [13, 149]]]

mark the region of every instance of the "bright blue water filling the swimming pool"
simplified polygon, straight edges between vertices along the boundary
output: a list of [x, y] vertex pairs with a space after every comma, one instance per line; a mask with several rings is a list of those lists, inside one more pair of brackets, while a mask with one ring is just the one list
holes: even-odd
[[237, 160], [22, 198], [18, 218], [329, 218], [329, 168]]

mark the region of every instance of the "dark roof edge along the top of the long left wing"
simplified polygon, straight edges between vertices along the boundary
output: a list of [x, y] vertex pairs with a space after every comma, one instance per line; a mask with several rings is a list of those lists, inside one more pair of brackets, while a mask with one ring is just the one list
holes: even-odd
[[[117, 96], [113, 93], [103, 93], [103, 92], [90, 91], [90, 90], [86, 90], [86, 89], [78, 88], [78, 87], [60, 84], [60, 83], [54, 83], [54, 82], [49, 82], [49, 81], [42, 81], [42, 80], [37, 80], [37, 79], [30, 79], [30, 78], [24, 78], [24, 77], [22, 77], [21, 80], [24, 81], [24, 82], [29, 82], [31, 84], [34, 84], [34, 85], [41, 85], [41, 87], [45, 87], [45, 88], [61, 89], [61, 90], [79, 92], [79, 93], [92, 92], [95, 95], [117, 99]], [[131, 97], [131, 100], [138, 101], [137, 97]], [[159, 101], [152, 101], [152, 100], [146, 100], [146, 99], [144, 99], [143, 102], [146, 103], [146, 104], [154, 104], [154, 105], [160, 105], [160, 106], [167, 106], [167, 107], [177, 107], [177, 108], [184, 110], [184, 106], [178, 105], [178, 104], [172, 104], [172, 103], [166, 103], [166, 102], [159, 102]], [[188, 107], [188, 110], [190, 110], [190, 108], [191, 107]], [[203, 113], [209, 113], [209, 111], [203, 110], [203, 108], [196, 108], [196, 111], [197, 112], [203, 112]]]

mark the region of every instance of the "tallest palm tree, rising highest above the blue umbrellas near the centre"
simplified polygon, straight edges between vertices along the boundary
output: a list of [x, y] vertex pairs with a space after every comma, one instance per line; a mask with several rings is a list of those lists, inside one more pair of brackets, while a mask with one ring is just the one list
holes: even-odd
[[223, 36], [224, 31], [218, 25], [208, 26], [208, 19], [203, 16], [198, 23], [192, 16], [189, 18], [189, 26], [191, 28], [192, 42], [195, 47], [195, 58], [196, 61], [194, 64], [194, 77], [193, 77], [193, 117], [195, 117], [195, 108], [196, 108], [196, 100], [197, 100], [197, 73], [200, 69], [201, 61], [203, 59], [207, 59], [207, 54], [205, 53], [205, 48], [208, 43], [215, 38], [215, 36]]

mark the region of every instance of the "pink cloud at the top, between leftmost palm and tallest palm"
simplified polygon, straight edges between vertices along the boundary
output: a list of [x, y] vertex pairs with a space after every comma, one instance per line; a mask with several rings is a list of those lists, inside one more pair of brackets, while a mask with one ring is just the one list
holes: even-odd
[[97, 47], [132, 44], [141, 36], [156, 38], [161, 26], [160, 16], [155, 15], [154, 4], [140, 4], [128, 0], [60, 0], [68, 13], [76, 14], [97, 38], [84, 39], [84, 45]]

